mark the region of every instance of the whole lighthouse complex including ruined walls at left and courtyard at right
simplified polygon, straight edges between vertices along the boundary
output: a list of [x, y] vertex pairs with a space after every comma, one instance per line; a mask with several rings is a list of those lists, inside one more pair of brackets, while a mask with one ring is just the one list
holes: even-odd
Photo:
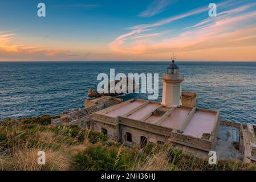
[[173, 60], [162, 74], [161, 102], [101, 96], [63, 112], [52, 126], [90, 127], [127, 146], [171, 142], [200, 158], [214, 150], [218, 159], [256, 161], [256, 125], [221, 121], [219, 111], [196, 107], [196, 93], [182, 92], [178, 69]]

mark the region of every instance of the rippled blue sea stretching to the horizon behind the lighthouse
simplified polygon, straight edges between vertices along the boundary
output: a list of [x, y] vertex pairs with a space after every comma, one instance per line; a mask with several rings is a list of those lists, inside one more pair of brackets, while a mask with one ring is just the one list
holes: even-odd
[[[168, 62], [0, 62], [0, 120], [26, 118], [83, 108], [99, 73], [161, 73]], [[220, 110], [222, 119], [256, 123], [256, 63], [176, 61], [184, 74], [182, 90], [197, 93], [197, 107]], [[148, 99], [148, 93], [119, 96]]]

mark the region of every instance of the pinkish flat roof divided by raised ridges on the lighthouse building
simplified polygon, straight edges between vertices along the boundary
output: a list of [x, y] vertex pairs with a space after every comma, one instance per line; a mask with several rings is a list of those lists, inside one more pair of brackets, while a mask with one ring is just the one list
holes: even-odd
[[129, 100], [101, 113], [108, 117], [125, 117], [138, 122], [178, 129], [184, 135], [202, 138], [211, 134], [218, 112], [186, 106], [166, 107], [160, 102], [147, 100]]

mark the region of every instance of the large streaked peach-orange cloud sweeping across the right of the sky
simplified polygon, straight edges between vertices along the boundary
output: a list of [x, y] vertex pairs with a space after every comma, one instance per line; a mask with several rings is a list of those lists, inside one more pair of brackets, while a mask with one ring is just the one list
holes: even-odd
[[[256, 3], [251, 3], [220, 12], [216, 18], [208, 18], [193, 26], [184, 28], [178, 35], [174, 36], [173, 34], [169, 34], [169, 38], [168, 35], [165, 35], [157, 40], [150, 39], [149, 36], [143, 39], [141, 35], [149, 31], [150, 28], [151, 30], [154, 28], [155, 31], [156, 28], [166, 23], [198, 14], [204, 11], [204, 9], [192, 10], [188, 13], [173, 16], [151, 24], [133, 26], [129, 28], [131, 29], [129, 33], [117, 37], [109, 44], [109, 47], [116, 53], [129, 53], [136, 55], [138, 58], [139, 56], [144, 57], [144, 55], [150, 55], [151, 59], [153, 59], [154, 56], [162, 57], [162, 55], [167, 55], [172, 51], [182, 52], [182, 55], [188, 56], [188, 52], [192, 53], [204, 50], [205, 55], [206, 52], [208, 52], [209, 55], [212, 56], [214, 54], [210, 52], [222, 52], [220, 48], [232, 48], [236, 52], [243, 51], [241, 53], [244, 54], [245, 49], [242, 47], [256, 46], [256, 11], [247, 11], [255, 5]], [[151, 32], [147, 34], [151, 35]], [[139, 40], [139, 38], [141, 39]], [[250, 52], [250, 54], [250, 56], [256, 60], [256, 52]], [[200, 56], [198, 57], [200, 58]], [[186, 57], [186, 59], [188, 59], [188, 57]]]

